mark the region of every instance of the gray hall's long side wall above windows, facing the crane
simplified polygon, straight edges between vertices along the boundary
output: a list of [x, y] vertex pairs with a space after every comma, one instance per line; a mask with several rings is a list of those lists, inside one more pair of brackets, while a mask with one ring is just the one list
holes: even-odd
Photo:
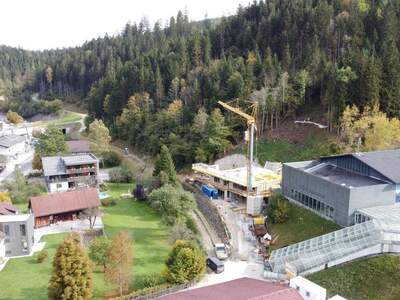
[[[350, 190], [348, 188], [305, 173], [302, 169], [292, 167], [290, 164], [284, 164], [282, 168], [282, 193], [285, 197], [294, 200], [291, 195], [292, 189], [332, 206], [334, 208], [334, 221], [342, 226], [349, 225]], [[295, 202], [301, 205], [300, 202]]]

